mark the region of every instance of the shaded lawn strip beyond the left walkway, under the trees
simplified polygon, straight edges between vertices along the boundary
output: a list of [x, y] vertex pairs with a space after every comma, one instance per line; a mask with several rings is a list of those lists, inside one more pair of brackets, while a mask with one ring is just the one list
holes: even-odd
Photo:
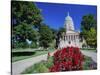
[[19, 61], [19, 60], [35, 57], [35, 56], [38, 56], [38, 55], [47, 54], [48, 52], [53, 52], [53, 51], [54, 51], [54, 49], [37, 50], [35, 52], [16, 52], [16, 53], [12, 52], [12, 62], [16, 62], [16, 61]]

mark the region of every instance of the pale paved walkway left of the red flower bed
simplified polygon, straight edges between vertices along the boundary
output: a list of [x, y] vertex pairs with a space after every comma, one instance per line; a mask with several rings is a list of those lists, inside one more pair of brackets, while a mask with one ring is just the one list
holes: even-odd
[[[53, 53], [54, 52], [52, 52], [51, 55], [53, 55]], [[47, 60], [47, 54], [14, 62], [12, 63], [12, 75], [20, 75], [20, 73], [23, 72], [26, 68], [42, 60]]]

